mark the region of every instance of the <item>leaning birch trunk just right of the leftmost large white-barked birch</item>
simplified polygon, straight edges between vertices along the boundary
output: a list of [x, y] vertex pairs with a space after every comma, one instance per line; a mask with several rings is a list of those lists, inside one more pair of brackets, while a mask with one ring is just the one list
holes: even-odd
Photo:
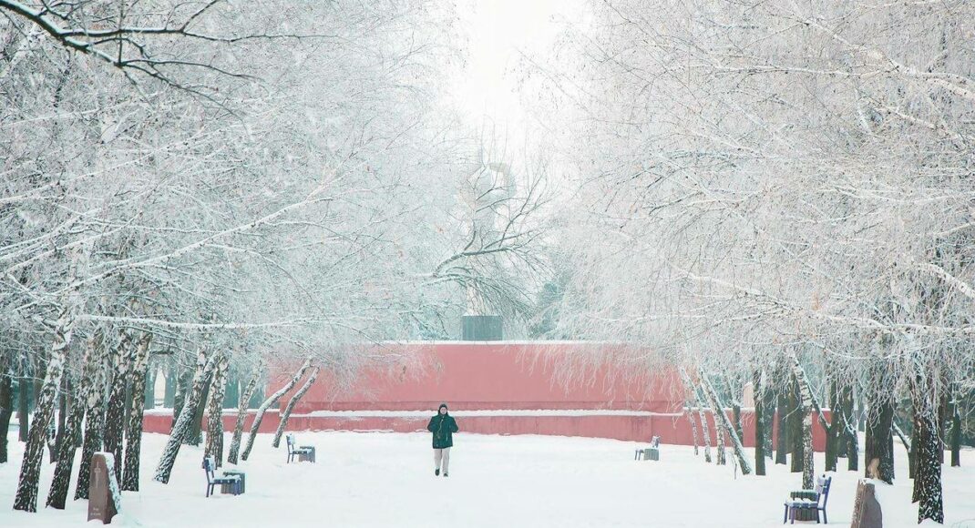
[[64, 509], [67, 501], [68, 488], [71, 486], [71, 470], [74, 469], [74, 452], [78, 449], [77, 437], [81, 435], [81, 423], [85, 419], [85, 408], [92, 388], [97, 386], [98, 378], [98, 347], [101, 346], [100, 333], [96, 332], [88, 339], [85, 346], [80, 383], [71, 395], [70, 413], [64, 424], [64, 435], [61, 437], [58, 453], [58, 466], [55, 476], [48, 490], [47, 506], [54, 509]]

